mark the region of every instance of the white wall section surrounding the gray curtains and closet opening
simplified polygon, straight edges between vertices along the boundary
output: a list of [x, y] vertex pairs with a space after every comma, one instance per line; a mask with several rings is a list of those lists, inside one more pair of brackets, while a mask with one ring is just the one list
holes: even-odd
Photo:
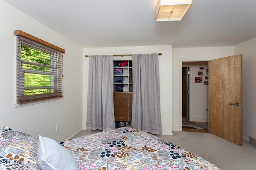
[[[83, 55], [118, 55], [136, 53], [162, 53], [159, 56], [160, 107], [162, 129], [172, 135], [172, 45], [84, 48]], [[86, 129], [89, 57], [83, 58], [83, 129]]]

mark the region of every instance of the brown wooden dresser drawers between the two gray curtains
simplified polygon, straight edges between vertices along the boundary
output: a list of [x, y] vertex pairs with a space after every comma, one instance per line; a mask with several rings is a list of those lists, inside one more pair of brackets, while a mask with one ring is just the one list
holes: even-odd
[[132, 93], [114, 92], [115, 121], [132, 121]]

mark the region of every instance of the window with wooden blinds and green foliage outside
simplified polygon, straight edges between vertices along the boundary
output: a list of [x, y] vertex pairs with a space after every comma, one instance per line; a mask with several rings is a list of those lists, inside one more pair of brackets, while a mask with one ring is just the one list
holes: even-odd
[[20, 30], [16, 42], [16, 102], [27, 103], [63, 97], [64, 49]]

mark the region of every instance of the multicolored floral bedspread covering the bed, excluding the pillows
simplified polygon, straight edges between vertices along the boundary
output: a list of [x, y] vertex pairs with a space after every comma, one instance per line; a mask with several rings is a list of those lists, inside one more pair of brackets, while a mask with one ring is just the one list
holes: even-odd
[[72, 152], [79, 170], [220, 170], [191, 152], [131, 127], [59, 143]]

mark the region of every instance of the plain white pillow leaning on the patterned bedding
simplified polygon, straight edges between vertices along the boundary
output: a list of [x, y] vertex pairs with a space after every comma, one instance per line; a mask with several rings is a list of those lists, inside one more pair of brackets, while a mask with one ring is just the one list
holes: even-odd
[[41, 170], [78, 170], [72, 153], [51, 138], [39, 136], [37, 159]]

